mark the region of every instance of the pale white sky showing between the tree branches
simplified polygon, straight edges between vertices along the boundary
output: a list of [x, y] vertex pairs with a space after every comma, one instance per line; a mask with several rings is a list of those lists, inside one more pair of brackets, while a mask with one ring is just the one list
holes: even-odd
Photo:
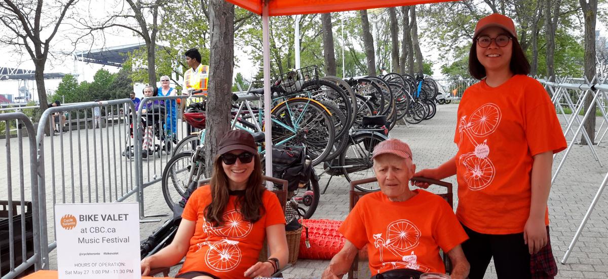
[[[108, 4], [106, 1], [89, 1], [88, 6], [80, 6], [78, 7], [79, 12], [81, 14], [89, 15], [93, 20], [97, 19], [95, 16], [102, 16], [109, 13], [110, 9], [116, 9], [115, 5]], [[337, 29], [339, 26], [334, 26], [334, 29]], [[421, 26], [423, 27], [423, 26]], [[606, 36], [606, 28], [602, 26], [601, 23], [598, 22], [597, 27], [601, 30], [602, 34]], [[421, 28], [420, 28], [421, 29]], [[419, 29], [419, 30], [420, 30]], [[6, 31], [4, 31], [6, 32]], [[0, 34], [2, 31], [0, 31]], [[334, 38], [336, 40], [339, 39], [340, 34], [337, 32], [334, 34]], [[91, 82], [93, 80], [93, 75], [98, 69], [108, 69], [110, 72], [117, 72], [119, 69], [113, 66], [102, 66], [94, 63], [83, 63], [83, 62], [75, 62], [74, 58], [71, 55], [64, 54], [65, 52], [71, 52], [74, 49], [69, 43], [68, 38], [73, 38], [74, 34], [72, 33], [71, 26], [66, 25], [62, 26], [58, 34], [54, 38], [54, 44], [51, 49], [51, 54], [49, 57], [49, 61], [47, 62], [46, 72], [62, 72], [62, 73], [70, 73], [77, 74], [78, 81], [82, 82], [87, 80]], [[133, 43], [143, 43], [141, 38], [138, 38], [133, 35], [133, 32], [126, 31], [125, 29], [114, 29], [108, 30], [108, 32], [104, 32], [104, 38], [94, 37], [90, 38], [88, 41], [83, 41], [77, 48], [76, 51], [86, 51], [88, 49], [99, 49], [102, 47], [114, 47], [114, 46], [122, 46], [126, 44]], [[105, 39], [105, 42], [104, 40]], [[159, 42], [162, 44], [162, 42]], [[362, 48], [362, 46], [361, 46]], [[261, 51], [261, 50], [260, 50]], [[337, 52], [341, 51], [341, 49], [336, 49]], [[424, 40], [421, 42], [421, 51], [425, 55], [425, 59], [430, 59], [432, 61], [437, 62], [437, 58], [439, 53], [432, 48], [432, 40]], [[5, 55], [0, 55], [0, 66], [6, 66], [9, 68], [22, 68], [22, 69], [34, 69], [33, 63], [30, 60], [29, 55], [26, 52], [15, 51], [13, 47], [7, 47], [0, 45], [0, 53]], [[257, 72], [257, 68], [261, 65], [254, 65], [254, 62], [249, 60], [248, 55], [242, 50], [242, 48], [235, 48], [235, 56], [237, 56], [239, 63], [235, 66], [234, 74], [236, 75], [238, 72], [241, 72], [244, 77], [247, 79], [250, 78]], [[337, 63], [341, 63], [341, 61], [337, 61]], [[435, 63], [434, 72], [435, 76], [440, 75], [440, 64]], [[56, 90], [60, 80], [47, 80], [46, 88], [47, 90]], [[15, 94], [19, 87], [26, 86], [30, 88], [30, 91], [35, 91], [35, 82], [29, 81], [24, 84], [24, 82], [9, 82], [2, 81], [0, 82], [2, 86], [0, 86], [0, 94]]]

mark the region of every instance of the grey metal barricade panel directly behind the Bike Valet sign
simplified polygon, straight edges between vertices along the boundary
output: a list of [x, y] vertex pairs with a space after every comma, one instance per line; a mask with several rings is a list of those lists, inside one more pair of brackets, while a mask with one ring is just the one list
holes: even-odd
[[[47, 236], [49, 228], [55, 231], [56, 203], [139, 201], [139, 194], [131, 197], [139, 189], [136, 163], [122, 156], [134, 143], [134, 116], [130, 99], [62, 105], [41, 116], [36, 144], [45, 266], [49, 252], [57, 246], [55, 235], [52, 241]], [[45, 135], [45, 129], [50, 135]]]

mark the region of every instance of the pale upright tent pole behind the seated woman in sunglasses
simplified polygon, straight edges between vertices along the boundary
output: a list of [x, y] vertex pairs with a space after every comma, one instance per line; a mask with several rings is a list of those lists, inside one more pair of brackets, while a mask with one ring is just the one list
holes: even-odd
[[[272, 120], [270, 91], [270, 37], [268, 32], [268, 3], [262, 1], [262, 49], [264, 52], [264, 137], [266, 150], [266, 175], [272, 177]], [[266, 182], [266, 188], [272, 190], [272, 183]]]

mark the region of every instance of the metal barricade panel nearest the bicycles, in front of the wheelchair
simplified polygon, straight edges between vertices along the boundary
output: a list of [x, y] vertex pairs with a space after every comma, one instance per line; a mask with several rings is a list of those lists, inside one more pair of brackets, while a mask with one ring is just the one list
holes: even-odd
[[[150, 185], [161, 182], [162, 172], [173, 155], [173, 148], [188, 136], [188, 124], [182, 118], [177, 101], [185, 102], [188, 96], [144, 97], [137, 108], [134, 138], [139, 139], [134, 146], [134, 158], [137, 172], [140, 174], [140, 214], [145, 216], [143, 190]], [[192, 131], [194, 132], [194, 131]], [[150, 195], [152, 205], [164, 204], [161, 188], [154, 188]], [[168, 209], [167, 209], [168, 210]], [[159, 216], [159, 215], [156, 215]]]

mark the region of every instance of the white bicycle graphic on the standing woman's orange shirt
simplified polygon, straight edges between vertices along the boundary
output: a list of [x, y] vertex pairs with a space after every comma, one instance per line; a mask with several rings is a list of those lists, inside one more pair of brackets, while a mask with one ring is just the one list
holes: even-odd
[[460, 155], [460, 163], [466, 168], [465, 180], [471, 190], [486, 188], [494, 180], [496, 169], [488, 158], [490, 152], [488, 140], [478, 143], [475, 138], [488, 136], [496, 131], [500, 123], [500, 116], [500, 108], [489, 103], [477, 108], [469, 118], [469, 122], [466, 121], [466, 115], [460, 118], [458, 147], [463, 140], [463, 133], [471, 140], [471, 143], [475, 144], [474, 152]]

